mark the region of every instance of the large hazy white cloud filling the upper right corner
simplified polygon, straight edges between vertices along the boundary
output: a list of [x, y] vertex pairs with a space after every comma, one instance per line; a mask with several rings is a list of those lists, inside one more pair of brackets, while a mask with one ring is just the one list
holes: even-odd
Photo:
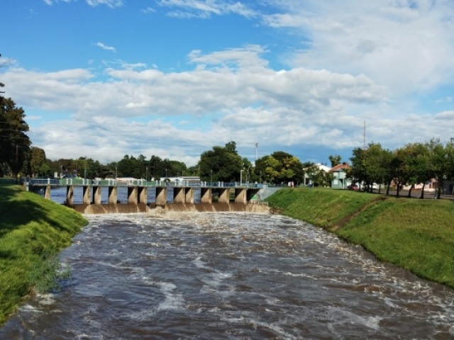
[[274, 2], [263, 22], [309, 39], [292, 67], [362, 73], [400, 94], [453, 79], [453, 1]]

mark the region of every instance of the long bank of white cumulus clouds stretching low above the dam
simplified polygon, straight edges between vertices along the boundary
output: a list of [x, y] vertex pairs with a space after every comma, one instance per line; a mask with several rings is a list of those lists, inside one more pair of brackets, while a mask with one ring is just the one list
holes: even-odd
[[[186, 72], [119, 63], [104, 74], [12, 68], [4, 76], [13, 84], [11, 96], [32, 115], [45, 109], [66, 116], [32, 128], [36, 145], [50, 156], [70, 152], [59, 145], [77, 145], [77, 152], [103, 161], [134, 150], [195, 164], [201, 152], [229, 140], [238, 147], [352, 146], [358, 142], [350, 135], [358, 128], [355, 115], [387, 102], [387, 89], [364, 75], [302, 67], [275, 71], [263, 51], [258, 46], [193, 51], [194, 68]], [[104, 76], [109, 81], [99, 81]]]

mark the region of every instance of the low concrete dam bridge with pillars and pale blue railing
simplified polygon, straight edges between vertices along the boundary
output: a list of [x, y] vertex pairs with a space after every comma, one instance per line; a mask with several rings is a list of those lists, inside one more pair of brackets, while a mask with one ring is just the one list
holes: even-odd
[[[167, 203], [209, 204], [221, 203], [229, 205], [240, 203], [260, 203], [263, 184], [224, 183], [189, 181], [145, 181], [131, 179], [127, 181], [89, 180], [89, 179], [31, 179], [25, 182], [28, 191], [44, 191], [45, 198], [51, 198], [51, 191], [66, 188], [65, 205], [77, 208], [78, 205], [145, 205], [166, 207]], [[74, 198], [74, 190], [82, 188], [79, 201]], [[118, 200], [119, 188], [126, 189], [126, 200]], [[151, 191], [151, 193], [150, 193]], [[194, 199], [194, 193], [197, 198]], [[149, 197], [155, 198], [154, 202]], [[101, 200], [104, 197], [104, 204]]]

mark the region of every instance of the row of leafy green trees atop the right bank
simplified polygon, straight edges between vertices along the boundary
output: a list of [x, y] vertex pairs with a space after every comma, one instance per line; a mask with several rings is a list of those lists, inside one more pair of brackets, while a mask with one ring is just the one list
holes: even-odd
[[428, 142], [409, 143], [394, 151], [384, 149], [380, 144], [370, 143], [366, 149], [353, 149], [350, 158], [351, 167], [348, 177], [353, 182], [364, 183], [372, 190], [372, 183], [387, 185], [387, 194], [391, 183], [394, 183], [397, 196], [402, 186], [423, 184], [421, 198], [424, 197], [424, 186], [431, 180], [438, 183], [438, 198], [443, 183], [454, 178], [454, 144], [433, 139]]

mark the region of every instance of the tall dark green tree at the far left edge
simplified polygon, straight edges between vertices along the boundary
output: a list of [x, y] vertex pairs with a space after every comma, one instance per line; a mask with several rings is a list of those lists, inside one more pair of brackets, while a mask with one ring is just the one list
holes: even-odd
[[22, 108], [17, 108], [11, 98], [0, 96], [0, 164], [8, 164], [13, 177], [18, 176], [30, 152], [24, 118]]

